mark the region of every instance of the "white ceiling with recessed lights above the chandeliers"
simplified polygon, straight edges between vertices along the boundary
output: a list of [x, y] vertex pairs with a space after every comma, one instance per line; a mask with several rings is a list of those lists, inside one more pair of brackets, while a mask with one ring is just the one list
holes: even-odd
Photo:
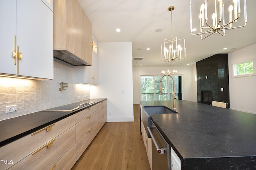
[[[243, 0], [240, 1], [243, 11]], [[142, 61], [132, 61], [133, 66], [169, 65], [161, 61], [161, 43], [164, 39], [171, 39], [169, 6], [175, 7], [172, 12], [173, 37], [186, 40], [186, 59], [180, 62], [174, 61], [170, 66], [187, 64], [191, 66], [214, 54], [230, 53], [256, 43], [256, 0], [246, 2], [248, 23], [245, 27], [228, 30], [224, 37], [216, 34], [204, 40], [200, 39], [200, 35], [190, 33], [190, 0], [78, 0], [78, 2], [92, 23], [92, 35], [98, 42], [132, 42], [132, 57], [143, 57]], [[194, 15], [195, 17], [199, 16], [199, 6], [203, 2], [204, 0], [192, 1], [192, 7], [196, 7], [198, 13]], [[231, 3], [232, 0], [224, 0], [225, 8]], [[211, 16], [208, 18], [209, 22], [212, 22]], [[225, 20], [228, 21], [228, 16]], [[242, 14], [239, 20], [244, 22]], [[199, 19], [193, 20], [193, 27], [199, 27]], [[120, 28], [121, 31], [116, 32], [116, 28]], [[156, 32], [156, 29], [162, 31]], [[224, 47], [227, 49], [223, 50]]]

